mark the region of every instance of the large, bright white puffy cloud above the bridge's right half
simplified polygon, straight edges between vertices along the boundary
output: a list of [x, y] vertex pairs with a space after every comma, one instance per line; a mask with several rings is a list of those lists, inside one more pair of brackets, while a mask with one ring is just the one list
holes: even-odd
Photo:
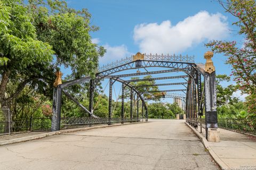
[[133, 39], [141, 53], [181, 53], [206, 39], [222, 39], [228, 34], [226, 16], [201, 11], [176, 25], [170, 20], [143, 23], [134, 27]]

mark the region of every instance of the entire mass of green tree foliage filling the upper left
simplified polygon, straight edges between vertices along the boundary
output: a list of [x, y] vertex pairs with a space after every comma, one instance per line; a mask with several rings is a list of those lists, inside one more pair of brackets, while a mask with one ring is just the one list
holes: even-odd
[[[58, 66], [71, 69], [69, 79], [94, 77], [103, 47], [91, 42], [86, 9], [68, 8], [65, 1], [0, 0], [0, 104], [9, 107], [29, 85], [51, 97]], [[54, 60], [53, 60], [54, 58]], [[9, 82], [17, 83], [7, 95]]]

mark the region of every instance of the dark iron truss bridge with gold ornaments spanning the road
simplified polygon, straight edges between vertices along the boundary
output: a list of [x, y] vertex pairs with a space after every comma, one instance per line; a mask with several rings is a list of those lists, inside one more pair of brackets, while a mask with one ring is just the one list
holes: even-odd
[[[215, 87], [215, 67], [213, 66], [211, 57], [213, 53], [207, 52], [204, 55], [206, 64], [194, 63], [194, 56], [182, 55], [158, 55], [158, 54], [140, 54], [137, 53], [132, 57], [126, 57], [120, 61], [107, 64], [100, 67], [98, 73], [95, 73], [95, 78], [83, 77], [76, 80], [71, 80], [65, 83], [58, 83], [54, 88], [53, 95], [53, 117], [52, 131], [60, 129], [61, 119], [61, 96], [66, 95], [70, 100], [74, 101], [89, 118], [77, 118], [74, 123], [88, 123], [87, 120], [93, 120], [97, 123], [108, 123], [127, 121], [127, 107], [129, 107], [130, 122], [143, 120], [145, 117], [148, 121], [147, 101], [159, 100], [159, 98], [174, 98], [182, 103], [183, 112], [186, 114], [187, 122], [194, 124], [195, 118], [205, 114], [205, 130], [207, 137], [208, 128], [218, 128], [217, 124], [217, 105], [216, 105], [216, 87]], [[148, 71], [147, 68], [157, 68], [155, 71]], [[142, 70], [143, 72], [139, 71]], [[138, 70], [136, 73], [129, 70]], [[145, 70], [145, 71], [144, 71]], [[126, 73], [121, 73], [126, 71]], [[169, 75], [177, 72], [182, 75]], [[166, 76], [166, 74], [168, 74]], [[157, 75], [151, 78], [139, 78], [141, 75]], [[127, 77], [131, 77], [129, 80]], [[203, 78], [203, 79], [202, 79]], [[99, 87], [101, 80], [109, 79], [108, 89], [108, 117], [101, 118], [93, 114], [98, 101], [95, 101], [94, 94]], [[178, 79], [178, 82], [174, 82]], [[167, 83], [162, 80], [168, 81]], [[182, 81], [180, 81], [182, 80]], [[145, 81], [146, 84], [139, 82]], [[155, 81], [159, 81], [156, 83]], [[70, 94], [69, 88], [76, 84], [89, 82], [89, 107], [83, 106], [73, 95]], [[116, 97], [116, 103], [121, 100], [121, 111], [119, 117], [113, 117], [116, 106], [113, 105], [113, 88], [116, 82], [122, 84], [121, 95]], [[181, 88], [176, 88], [181, 86]], [[158, 89], [164, 87], [165, 89]], [[115, 89], [114, 89], [115, 90]], [[180, 93], [178, 93], [180, 91]], [[116, 94], [116, 91], [114, 91]], [[127, 94], [128, 92], [128, 94]], [[177, 93], [167, 93], [177, 92]], [[106, 92], [105, 92], [106, 94]], [[125, 106], [124, 100], [129, 100], [130, 104]], [[107, 107], [107, 106], [106, 106]], [[142, 118], [141, 118], [142, 117]], [[68, 120], [68, 119], [67, 119]], [[74, 120], [74, 119], [73, 119]], [[118, 121], [117, 121], [118, 120]], [[62, 120], [63, 122], [64, 120]], [[195, 123], [196, 124], [196, 123]]]

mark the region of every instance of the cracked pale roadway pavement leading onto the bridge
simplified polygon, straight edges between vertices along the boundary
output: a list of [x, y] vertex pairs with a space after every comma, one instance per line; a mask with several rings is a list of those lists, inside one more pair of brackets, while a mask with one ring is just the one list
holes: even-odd
[[183, 120], [149, 120], [0, 146], [0, 169], [219, 169]]

